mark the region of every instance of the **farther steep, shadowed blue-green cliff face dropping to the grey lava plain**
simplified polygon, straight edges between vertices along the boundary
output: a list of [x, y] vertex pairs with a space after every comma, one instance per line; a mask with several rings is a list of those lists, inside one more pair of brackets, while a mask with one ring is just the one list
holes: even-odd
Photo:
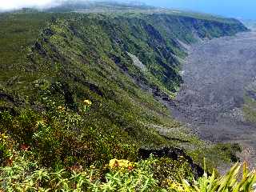
[[[171, 14], [64, 15], [52, 22], [50, 27], [54, 29], [48, 29], [51, 32], [46, 32], [46, 37], [42, 35], [41, 41], [49, 36], [63, 40], [66, 44], [60, 45], [54, 39], [52, 44], [57, 50], [63, 49], [66, 52], [64, 54], [67, 54], [65, 46], [70, 42], [76, 48], [73, 50], [78, 50], [77, 46], [84, 46], [83, 53], [80, 53], [84, 56], [94, 50], [96, 53], [100, 51], [114, 61], [115, 67], [118, 66], [134, 78], [139, 74], [138, 78], [162, 86], [170, 92], [175, 92], [175, 88], [182, 82], [178, 74], [178, 58], [186, 56], [186, 52], [178, 41], [192, 43], [198, 39], [218, 38], [246, 31], [245, 26], [234, 20], [220, 22]], [[73, 38], [78, 42], [72, 43]], [[47, 42], [38, 43], [47, 46]], [[146, 73], [143, 74], [130, 62], [127, 52], [138, 57], [146, 66]], [[94, 62], [94, 58], [91, 59]]]

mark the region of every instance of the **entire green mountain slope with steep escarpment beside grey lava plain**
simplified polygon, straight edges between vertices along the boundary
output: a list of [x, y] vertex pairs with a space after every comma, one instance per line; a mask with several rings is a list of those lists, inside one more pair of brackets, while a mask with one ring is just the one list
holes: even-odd
[[184, 44], [246, 31], [242, 23], [162, 11], [0, 18], [0, 130], [10, 138], [2, 165], [12, 150], [54, 170], [138, 161], [162, 147], [190, 166], [203, 155], [212, 166], [234, 158], [235, 146], [206, 145], [161, 101], [182, 83]]

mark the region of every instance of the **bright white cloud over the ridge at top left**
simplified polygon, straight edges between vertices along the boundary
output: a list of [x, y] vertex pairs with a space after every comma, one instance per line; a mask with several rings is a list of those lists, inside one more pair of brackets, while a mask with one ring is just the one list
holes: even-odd
[[17, 10], [24, 7], [47, 8], [58, 6], [64, 0], [0, 0], [0, 10]]

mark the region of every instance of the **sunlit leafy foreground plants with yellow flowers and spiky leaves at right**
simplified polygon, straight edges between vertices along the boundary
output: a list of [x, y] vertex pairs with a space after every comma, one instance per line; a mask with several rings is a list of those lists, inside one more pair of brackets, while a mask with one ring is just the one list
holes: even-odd
[[[6, 136], [1, 135], [6, 143]], [[70, 166], [50, 170], [38, 167], [28, 151], [10, 152], [9, 165], [0, 167], [0, 190], [4, 191], [253, 191], [255, 172], [235, 164], [224, 177], [206, 172], [195, 180], [191, 167], [182, 158], [171, 161], [154, 158], [139, 162], [112, 159], [98, 169]]]

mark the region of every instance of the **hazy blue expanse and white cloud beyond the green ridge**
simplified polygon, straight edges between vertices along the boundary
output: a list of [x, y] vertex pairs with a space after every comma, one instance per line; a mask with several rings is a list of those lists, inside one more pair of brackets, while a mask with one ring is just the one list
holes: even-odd
[[[14, 10], [22, 7], [46, 8], [57, 6], [64, 1], [68, 0], [0, 0], [0, 10]], [[126, 1], [122, 0], [122, 2]], [[194, 10], [232, 18], [256, 19], [256, 0], [140, 0], [140, 2], [152, 6]]]

